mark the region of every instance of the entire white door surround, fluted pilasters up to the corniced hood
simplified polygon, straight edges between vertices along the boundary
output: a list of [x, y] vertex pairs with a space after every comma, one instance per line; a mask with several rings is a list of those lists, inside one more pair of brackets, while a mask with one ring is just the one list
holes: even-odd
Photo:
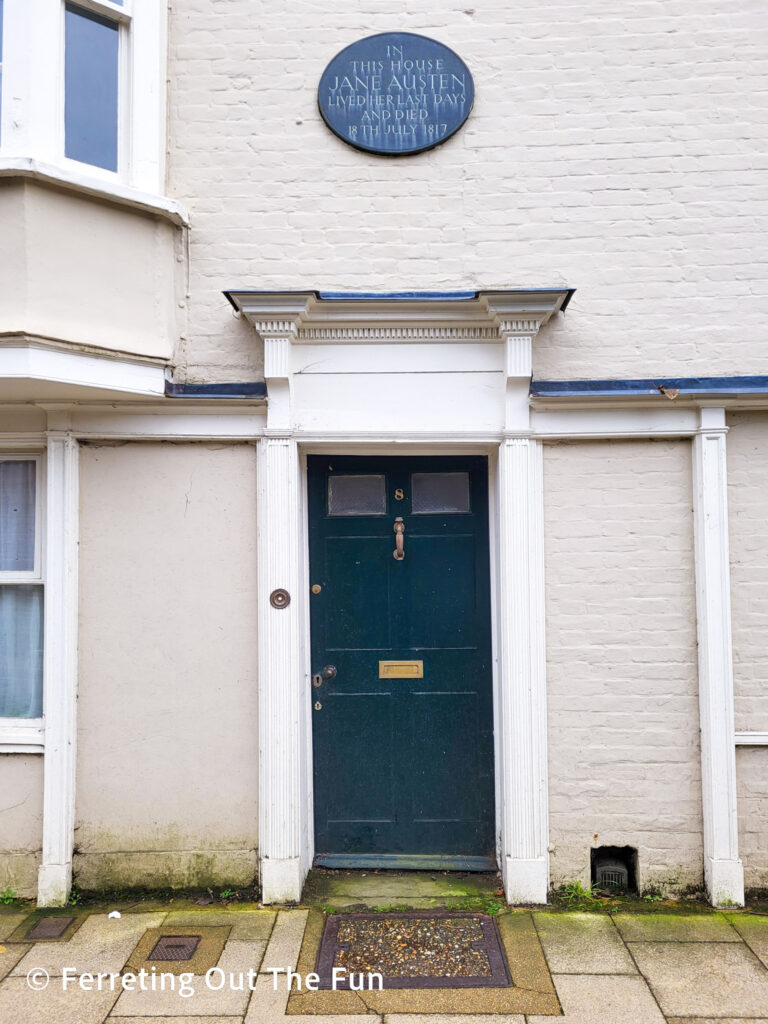
[[[314, 853], [305, 457], [311, 453], [373, 456], [384, 446], [388, 454], [493, 456], [489, 530], [496, 566], [492, 636], [498, 858], [510, 903], [546, 902], [542, 444], [529, 436], [527, 391], [532, 338], [566, 296], [567, 290], [495, 293], [490, 299], [439, 305], [409, 299], [406, 310], [399, 302], [393, 309], [391, 300], [382, 300], [373, 301], [365, 311], [355, 306], [353, 314], [348, 303], [331, 302], [329, 310], [309, 294], [234, 297], [263, 339], [269, 389], [267, 427], [259, 442], [257, 525], [262, 594], [259, 858], [265, 903], [300, 899]], [[392, 359], [390, 349], [383, 350], [382, 345], [390, 346]], [[335, 346], [342, 348], [357, 370], [334, 369], [325, 375], [322, 368], [318, 371], [324, 358], [338, 367], [338, 355], [329, 356], [329, 346], [334, 352]], [[408, 358], [416, 346], [422, 347], [420, 365], [425, 353], [426, 364], [434, 360], [434, 373], [430, 375], [429, 365], [419, 372], [440, 395], [425, 393], [423, 407], [412, 407], [400, 416], [396, 413], [399, 381], [409, 374], [398, 377], [391, 366], [399, 367], [403, 352]], [[477, 389], [479, 398], [466, 397], [466, 375], [475, 372], [473, 360], [480, 361], [480, 356], [490, 372]], [[445, 365], [453, 369], [444, 371]], [[374, 375], [371, 409], [361, 409], [354, 427], [334, 430], [327, 395], [338, 395], [341, 387], [354, 400], [357, 389], [370, 387]], [[485, 415], [482, 402], [488, 399], [483, 387], [495, 389], [496, 429], [474, 429], [472, 410], [463, 424], [446, 429], [445, 409], [454, 403], [474, 400], [479, 416]], [[385, 400], [377, 404], [382, 393]], [[270, 603], [276, 590], [288, 592], [289, 604]]]

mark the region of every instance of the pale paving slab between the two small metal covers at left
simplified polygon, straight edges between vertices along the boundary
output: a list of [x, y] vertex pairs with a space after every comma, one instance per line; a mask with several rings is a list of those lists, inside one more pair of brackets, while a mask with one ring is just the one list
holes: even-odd
[[158, 928], [164, 916], [162, 912], [123, 918], [93, 913], [69, 942], [36, 942], [11, 976], [27, 974], [31, 968], [45, 968], [51, 976], [60, 976], [65, 967], [81, 974], [120, 971], [144, 932]]

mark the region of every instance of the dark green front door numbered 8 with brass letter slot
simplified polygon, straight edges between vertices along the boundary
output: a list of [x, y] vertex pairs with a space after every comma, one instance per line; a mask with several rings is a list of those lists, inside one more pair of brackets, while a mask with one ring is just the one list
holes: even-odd
[[487, 462], [308, 477], [315, 860], [493, 866]]

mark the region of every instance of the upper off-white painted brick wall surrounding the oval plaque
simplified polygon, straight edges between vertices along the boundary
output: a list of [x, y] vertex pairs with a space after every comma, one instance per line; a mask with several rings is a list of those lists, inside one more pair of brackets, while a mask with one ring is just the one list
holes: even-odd
[[[768, 373], [768, 69], [759, 0], [173, 0], [169, 188], [191, 213], [181, 372], [259, 372], [229, 287], [565, 283], [536, 376]], [[445, 145], [356, 153], [328, 60], [382, 31], [470, 66]]]

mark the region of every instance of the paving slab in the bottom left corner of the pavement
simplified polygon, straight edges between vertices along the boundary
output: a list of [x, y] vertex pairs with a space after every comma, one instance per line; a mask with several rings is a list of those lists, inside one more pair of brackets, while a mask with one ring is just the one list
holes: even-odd
[[63, 991], [60, 978], [51, 978], [44, 991], [33, 991], [26, 978], [0, 982], [2, 1024], [101, 1024], [117, 992]]

